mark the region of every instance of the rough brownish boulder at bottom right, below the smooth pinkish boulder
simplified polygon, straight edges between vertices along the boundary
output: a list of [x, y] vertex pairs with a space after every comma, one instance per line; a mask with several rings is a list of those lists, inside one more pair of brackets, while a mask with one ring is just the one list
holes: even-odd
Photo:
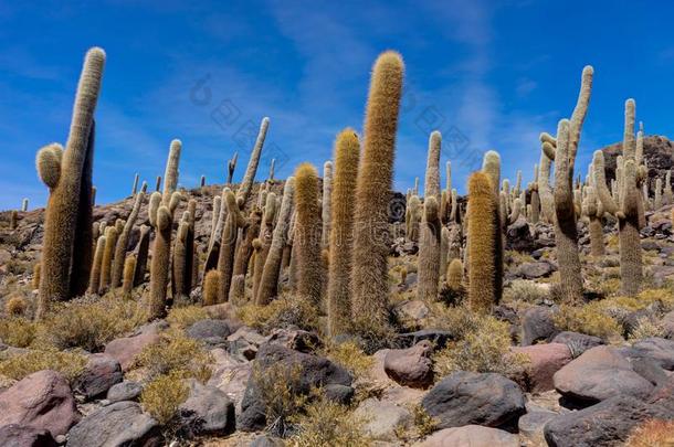
[[544, 433], [550, 447], [610, 447], [621, 445], [635, 426], [657, 415], [654, 407], [640, 400], [615, 395], [579, 412], [556, 416]]

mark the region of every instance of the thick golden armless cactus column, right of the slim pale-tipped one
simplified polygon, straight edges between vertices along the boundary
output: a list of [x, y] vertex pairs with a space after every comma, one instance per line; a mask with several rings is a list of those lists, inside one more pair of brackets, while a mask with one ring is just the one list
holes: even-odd
[[494, 264], [501, 240], [497, 215], [493, 180], [486, 172], [474, 172], [468, 179], [468, 304], [473, 311], [483, 313], [497, 302], [496, 289], [501, 287]]

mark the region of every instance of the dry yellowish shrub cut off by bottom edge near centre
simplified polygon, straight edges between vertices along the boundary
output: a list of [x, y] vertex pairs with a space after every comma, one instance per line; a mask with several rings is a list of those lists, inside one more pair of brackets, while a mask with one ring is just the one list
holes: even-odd
[[348, 407], [319, 398], [296, 417], [297, 436], [289, 439], [295, 447], [369, 447], [372, 439], [364, 433], [366, 421]]

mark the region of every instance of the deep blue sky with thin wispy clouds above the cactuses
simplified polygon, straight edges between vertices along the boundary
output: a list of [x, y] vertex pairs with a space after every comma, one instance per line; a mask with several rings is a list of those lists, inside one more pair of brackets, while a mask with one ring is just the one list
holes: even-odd
[[585, 171], [594, 149], [621, 139], [628, 97], [647, 134], [674, 134], [673, 3], [364, 3], [0, 1], [0, 209], [24, 196], [31, 207], [44, 204], [34, 155], [66, 139], [82, 60], [94, 45], [107, 52], [98, 203], [127, 195], [135, 172], [154, 184], [173, 138], [183, 142], [182, 185], [201, 174], [223, 182], [235, 150], [240, 179], [248, 132], [263, 116], [266, 158], [283, 160], [277, 178], [301, 161], [322, 166], [341, 128], [361, 128], [369, 71], [387, 49], [406, 61], [401, 191], [423, 179], [435, 128], [460, 191], [488, 149], [501, 152], [504, 177], [522, 169], [530, 179], [538, 134], [570, 115], [586, 64], [594, 66], [594, 89], [577, 167]]

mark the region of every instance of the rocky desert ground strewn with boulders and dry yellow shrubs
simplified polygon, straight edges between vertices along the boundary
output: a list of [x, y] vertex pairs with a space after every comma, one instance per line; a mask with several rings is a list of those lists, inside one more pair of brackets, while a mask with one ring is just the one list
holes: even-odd
[[[218, 191], [190, 191], [200, 246]], [[125, 217], [131, 204], [96, 206], [95, 220]], [[647, 213], [638, 298], [619, 295], [614, 223], [601, 259], [579, 224], [587, 292], [573, 307], [556, 299], [551, 226], [520, 219], [507, 232], [494, 317], [472, 315], [446, 288], [441, 302], [418, 300], [417, 246], [394, 238], [396, 331], [338, 341], [292, 294], [264, 309], [201, 307], [199, 287], [151, 323], [147, 285], [34, 323], [43, 210], [19, 213], [17, 230], [1, 214], [0, 445], [655, 445], [636, 443], [674, 430], [671, 207]]]

